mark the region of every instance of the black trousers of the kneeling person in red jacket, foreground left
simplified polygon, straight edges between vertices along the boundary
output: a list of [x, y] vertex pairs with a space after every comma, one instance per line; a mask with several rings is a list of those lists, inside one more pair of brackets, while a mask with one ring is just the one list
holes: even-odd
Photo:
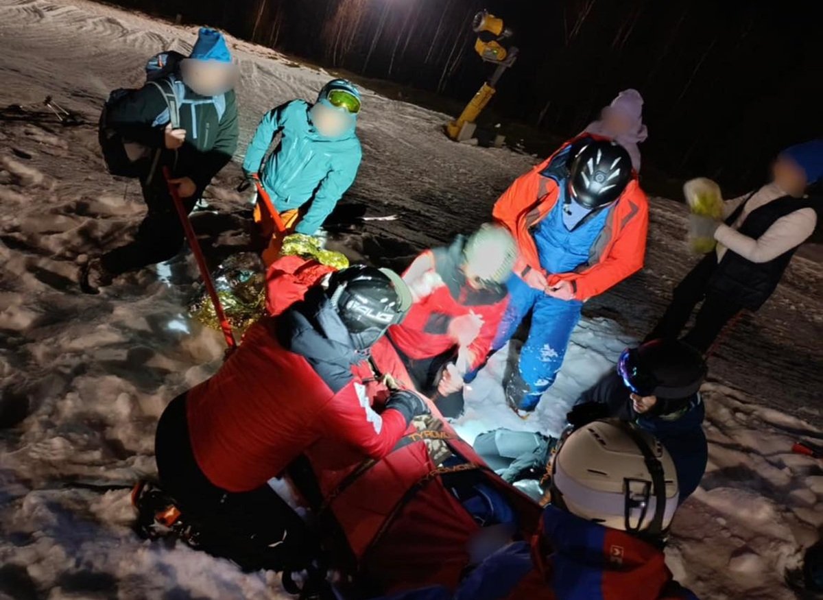
[[157, 471], [184, 518], [202, 529], [203, 550], [247, 570], [300, 569], [319, 556], [316, 537], [271, 487], [230, 492], [207, 479], [192, 452], [185, 401], [174, 398], [160, 417]]

